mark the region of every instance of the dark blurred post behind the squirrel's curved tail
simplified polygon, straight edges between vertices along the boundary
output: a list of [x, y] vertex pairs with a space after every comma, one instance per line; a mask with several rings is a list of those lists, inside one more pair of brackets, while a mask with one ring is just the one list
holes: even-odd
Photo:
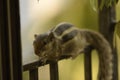
[[[98, 7], [100, 6], [102, 0], [98, 0]], [[118, 80], [118, 58], [116, 49], [113, 47], [113, 36], [114, 27], [116, 21], [115, 5], [111, 7], [103, 7], [102, 10], [99, 9], [99, 31], [104, 35], [104, 37], [109, 41], [113, 49], [113, 80]]]

